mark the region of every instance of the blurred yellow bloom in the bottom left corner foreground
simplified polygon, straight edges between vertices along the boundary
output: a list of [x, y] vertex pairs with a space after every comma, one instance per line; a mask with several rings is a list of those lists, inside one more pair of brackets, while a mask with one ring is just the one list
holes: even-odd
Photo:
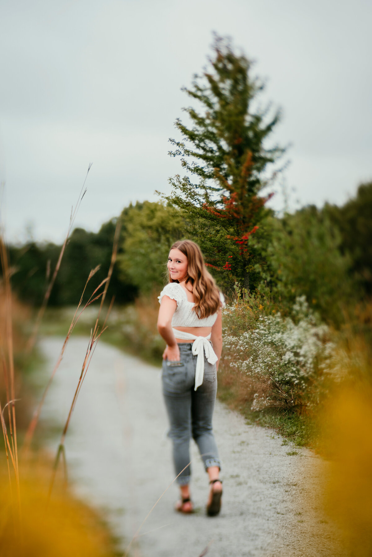
[[0, 555], [15, 557], [112, 557], [112, 541], [94, 511], [55, 488], [47, 503], [45, 482], [21, 481], [21, 524], [13, 486], [0, 474]]

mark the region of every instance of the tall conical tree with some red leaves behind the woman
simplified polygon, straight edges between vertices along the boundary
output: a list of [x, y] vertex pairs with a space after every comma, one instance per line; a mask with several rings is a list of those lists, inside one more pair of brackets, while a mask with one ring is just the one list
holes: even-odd
[[186, 210], [207, 265], [252, 290], [262, 263], [252, 235], [261, 232], [264, 205], [272, 196], [262, 190], [275, 175], [269, 177], [267, 167], [284, 152], [264, 145], [279, 111], [269, 118], [269, 108], [252, 108], [263, 84], [251, 77], [252, 63], [236, 54], [229, 40], [215, 36], [213, 51], [211, 71], [195, 75], [191, 89], [183, 88], [202, 110], [183, 109], [190, 125], [176, 120], [182, 140], [170, 139], [175, 148], [170, 155], [181, 156], [187, 174], [170, 179], [167, 200]]

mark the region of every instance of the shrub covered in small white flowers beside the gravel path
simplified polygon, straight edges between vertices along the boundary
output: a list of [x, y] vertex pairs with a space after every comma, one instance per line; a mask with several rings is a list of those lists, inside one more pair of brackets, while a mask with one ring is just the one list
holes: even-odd
[[[233, 308], [227, 306], [224, 312]], [[305, 296], [297, 297], [293, 318], [278, 312], [260, 316], [257, 326], [242, 334], [226, 332], [230, 368], [243, 371], [257, 385], [252, 410], [307, 404], [311, 386], [321, 377], [334, 348], [327, 325], [318, 323]]]

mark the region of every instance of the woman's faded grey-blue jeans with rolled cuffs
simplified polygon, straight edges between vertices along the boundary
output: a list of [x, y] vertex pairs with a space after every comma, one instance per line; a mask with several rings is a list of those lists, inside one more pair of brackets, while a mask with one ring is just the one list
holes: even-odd
[[[178, 343], [181, 365], [163, 360], [163, 395], [170, 422], [168, 437], [173, 442], [173, 462], [177, 482], [190, 482], [190, 438], [195, 440], [205, 470], [210, 466], [221, 468], [218, 449], [212, 432], [212, 414], [217, 392], [216, 364], [204, 356], [204, 380], [195, 387], [196, 357], [191, 352], [192, 343]], [[170, 364], [170, 365], [169, 365]], [[183, 470], [185, 468], [185, 470]]]

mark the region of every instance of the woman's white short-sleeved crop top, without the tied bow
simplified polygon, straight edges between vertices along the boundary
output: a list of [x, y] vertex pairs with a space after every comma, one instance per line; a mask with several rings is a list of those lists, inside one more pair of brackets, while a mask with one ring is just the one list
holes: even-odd
[[[172, 317], [172, 327], [211, 327], [217, 319], [217, 312], [199, 319], [196, 312], [192, 309], [194, 302], [187, 300], [185, 290], [178, 282], [170, 282], [167, 284], [158, 296], [159, 304], [161, 304], [162, 297], [168, 296], [172, 300], [176, 300], [177, 307]], [[221, 305], [225, 306], [225, 297], [220, 292]]]

